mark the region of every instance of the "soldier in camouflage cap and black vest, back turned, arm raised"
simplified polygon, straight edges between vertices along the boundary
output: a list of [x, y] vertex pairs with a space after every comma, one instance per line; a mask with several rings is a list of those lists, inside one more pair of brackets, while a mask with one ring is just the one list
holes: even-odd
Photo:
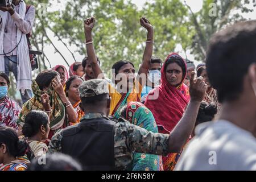
[[191, 81], [191, 102], [170, 135], [152, 133], [122, 118], [117, 123], [109, 120], [108, 82], [85, 81], [79, 91], [86, 115], [79, 124], [58, 131], [49, 143], [49, 152], [71, 155], [85, 170], [125, 170], [133, 160], [133, 152], [155, 155], [180, 152], [193, 130], [207, 89], [201, 78]]

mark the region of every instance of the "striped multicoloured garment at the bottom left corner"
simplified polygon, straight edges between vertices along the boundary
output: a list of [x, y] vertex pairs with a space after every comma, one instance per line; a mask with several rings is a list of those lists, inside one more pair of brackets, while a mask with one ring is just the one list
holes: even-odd
[[9, 164], [0, 166], [0, 171], [26, 171], [29, 163], [30, 163], [29, 160], [19, 158], [19, 159], [13, 160]]

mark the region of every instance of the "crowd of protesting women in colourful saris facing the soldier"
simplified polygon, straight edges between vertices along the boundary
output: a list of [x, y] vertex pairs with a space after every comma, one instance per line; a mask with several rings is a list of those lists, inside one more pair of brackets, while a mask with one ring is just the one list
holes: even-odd
[[[160, 59], [156, 61], [152, 57], [154, 28], [146, 18], [141, 18], [140, 22], [147, 31], [147, 39], [137, 76], [132, 61], [120, 60], [113, 64], [113, 79], [106, 78], [112, 98], [109, 118], [117, 121], [122, 117], [153, 133], [170, 134], [190, 100], [189, 82], [185, 82], [187, 63], [177, 53], [170, 53], [163, 64]], [[40, 72], [32, 82], [34, 97], [22, 108], [7, 96], [10, 80], [5, 73], [0, 73], [0, 170], [26, 170], [32, 159], [47, 153], [47, 144], [56, 131], [76, 125], [85, 115], [80, 108], [79, 86], [92, 78], [104, 78], [93, 46], [94, 23], [94, 18], [84, 22], [88, 57], [73, 63], [69, 71], [63, 65], [56, 65]], [[197, 116], [198, 125], [212, 121], [221, 106], [216, 91], [209, 84], [205, 64], [193, 71], [208, 85]], [[141, 79], [143, 74], [146, 80]], [[130, 169], [172, 170], [179, 156], [176, 153], [168, 156], [134, 153]]]

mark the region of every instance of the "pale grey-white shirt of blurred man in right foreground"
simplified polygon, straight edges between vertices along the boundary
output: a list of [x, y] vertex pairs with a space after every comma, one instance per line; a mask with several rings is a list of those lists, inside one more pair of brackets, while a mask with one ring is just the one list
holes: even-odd
[[175, 170], [256, 170], [256, 139], [229, 121], [203, 123]]

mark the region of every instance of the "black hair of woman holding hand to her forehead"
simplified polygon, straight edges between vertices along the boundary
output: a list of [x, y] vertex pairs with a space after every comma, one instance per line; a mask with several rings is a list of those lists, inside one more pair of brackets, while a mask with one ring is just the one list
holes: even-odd
[[48, 87], [49, 84], [51, 84], [51, 81], [53, 80], [53, 78], [55, 78], [58, 75], [60, 75], [58, 72], [52, 69], [50, 70], [46, 69], [38, 74], [35, 81], [38, 84], [40, 90], [43, 90], [44, 87]]

